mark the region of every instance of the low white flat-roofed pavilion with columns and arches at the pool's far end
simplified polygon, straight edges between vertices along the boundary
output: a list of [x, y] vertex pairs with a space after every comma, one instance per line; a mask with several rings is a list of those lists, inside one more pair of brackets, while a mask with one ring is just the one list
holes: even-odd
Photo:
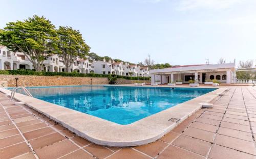
[[215, 64], [215, 65], [185, 65], [164, 69], [150, 70], [151, 83], [161, 84], [189, 80], [196, 80], [203, 84], [206, 80], [218, 80], [220, 83], [230, 84], [236, 78], [236, 64]]

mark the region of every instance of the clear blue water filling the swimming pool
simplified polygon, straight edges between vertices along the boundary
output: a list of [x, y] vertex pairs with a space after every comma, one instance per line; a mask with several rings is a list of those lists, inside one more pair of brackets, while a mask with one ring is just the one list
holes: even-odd
[[35, 98], [125, 125], [215, 89], [65, 86], [28, 90]]

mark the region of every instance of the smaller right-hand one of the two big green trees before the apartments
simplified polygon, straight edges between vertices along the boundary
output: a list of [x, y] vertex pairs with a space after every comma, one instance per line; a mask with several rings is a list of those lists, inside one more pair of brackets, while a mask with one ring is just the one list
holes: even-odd
[[69, 72], [69, 68], [76, 58], [86, 58], [90, 47], [82, 39], [81, 33], [69, 26], [59, 26], [57, 34], [59, 38], [58, 56], [62, 58], [66, 72]]

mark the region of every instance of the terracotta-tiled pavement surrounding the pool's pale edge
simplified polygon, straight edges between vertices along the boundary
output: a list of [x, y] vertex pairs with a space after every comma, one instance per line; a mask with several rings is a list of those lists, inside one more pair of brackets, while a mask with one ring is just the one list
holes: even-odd
[[0, 94], [0, 158], [256, 158], [256, 90], [230, 87], [158, 141], [103, 147]]

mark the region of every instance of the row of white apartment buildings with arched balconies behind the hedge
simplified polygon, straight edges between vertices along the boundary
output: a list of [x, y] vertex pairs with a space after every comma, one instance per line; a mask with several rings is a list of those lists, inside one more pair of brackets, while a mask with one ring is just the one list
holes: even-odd
[[[12, 52], [6, 46], [0, 46], [0, 69], [17, 70], [33, 69], [33, 64], [22, 52]], [[70, 66], [69, 72], [97, 73], [97, 74], [117, 74], [123, 76], [143, 76], [149, 77], [150, 73], [147, 66], [129, 65], [129, 63], [115, 62], [109, 60], [93, 61], [77, 58]], [[57, 55], [46, 57], [42, 70], [48, 72], [65, 72], [66, 66], [63, 60]]]

